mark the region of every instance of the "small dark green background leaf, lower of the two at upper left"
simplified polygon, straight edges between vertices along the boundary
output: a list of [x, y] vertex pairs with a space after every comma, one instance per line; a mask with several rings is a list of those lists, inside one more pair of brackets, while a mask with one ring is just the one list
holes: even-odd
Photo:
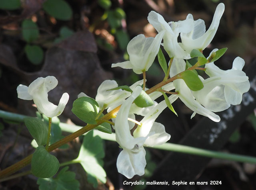
[[25, 53], [28, 60], [34, 65], [39, 65], [44, 59], [44, 51], [38, 45], [26, 45]]

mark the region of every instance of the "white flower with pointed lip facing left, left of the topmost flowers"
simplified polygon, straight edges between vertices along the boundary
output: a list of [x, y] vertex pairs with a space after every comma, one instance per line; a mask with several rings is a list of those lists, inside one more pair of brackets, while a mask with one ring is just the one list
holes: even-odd
[[134, 37], [127, 45], [130, 61], [112, 64], [111, 67], [132, 69], [136, 74], [148, 71], [159, 51], [164, 31], [156, 37], [145, 37], [143, 34]]

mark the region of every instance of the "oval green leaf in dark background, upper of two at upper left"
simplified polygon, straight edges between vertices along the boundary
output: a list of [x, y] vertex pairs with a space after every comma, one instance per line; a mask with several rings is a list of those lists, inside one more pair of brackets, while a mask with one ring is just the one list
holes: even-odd
[[39, 36], [39, 29], [32, 20], [24, 20], [22, 22], [22, 37], [26, 42], [35, 41]]

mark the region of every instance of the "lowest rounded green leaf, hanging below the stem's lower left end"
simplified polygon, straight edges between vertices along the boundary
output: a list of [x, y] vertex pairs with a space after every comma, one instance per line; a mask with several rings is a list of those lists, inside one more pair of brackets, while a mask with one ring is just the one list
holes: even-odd
[[31, 160], [31, 172], [38, 178], [50, 178], [54, 176], [60, 167], [58, 159], [48, 153], [44, 146], [39, 146]]

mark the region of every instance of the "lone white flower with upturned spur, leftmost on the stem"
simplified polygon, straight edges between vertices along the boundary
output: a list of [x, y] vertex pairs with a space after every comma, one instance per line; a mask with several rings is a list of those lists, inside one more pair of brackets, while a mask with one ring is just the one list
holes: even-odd
[[68, 93], [64, 93], [60, 98], [58, 106], [49, 102], [48, 92], [55, 88], [57, 84], [58, 80], [54, 76], [47, 76], [46, 78], [39, 77], [29, 86], [20, 84], [17, 87], [18, 98], [34, 100], [38, 111], [48, 118], [59, 116], [68, 103], [69, 95]]

